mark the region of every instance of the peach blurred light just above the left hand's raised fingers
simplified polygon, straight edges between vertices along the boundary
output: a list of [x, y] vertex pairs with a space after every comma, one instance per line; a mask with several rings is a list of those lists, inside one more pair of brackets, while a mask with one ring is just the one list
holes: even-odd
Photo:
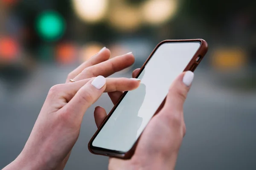
[[92, 42], [83, 46], [79, 52], [80, 61], [87, 61], [90, 57], [97, 54], [102, 48], [103, 46], [97, 42]]

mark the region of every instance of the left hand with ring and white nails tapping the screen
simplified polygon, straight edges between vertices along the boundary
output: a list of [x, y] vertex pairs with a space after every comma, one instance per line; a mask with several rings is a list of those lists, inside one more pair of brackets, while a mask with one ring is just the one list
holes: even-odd
[[[72, 71], [65, 84], [55, 85], [49, 90], [24, 149], [5, 170], [64, 168], [79, 137], [82, 118], [87, 108], [103, 92], [111, 94], [115, 91], [129, 91], [140, 84], [138, 79], [105, 78], [134, 62], [132, 54], [113, 59], [109, 57], [110, 51], [103, 48]], [[70, 82], [70, 79], [76, 82]]]

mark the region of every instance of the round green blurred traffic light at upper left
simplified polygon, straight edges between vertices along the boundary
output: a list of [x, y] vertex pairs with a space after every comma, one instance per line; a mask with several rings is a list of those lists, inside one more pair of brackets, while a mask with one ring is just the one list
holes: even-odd
[[36, 20], [36, 30], [39, 36], [47, 41], [60, 39], [65, 28], [64, 18], [56, 11], [44, 11]]

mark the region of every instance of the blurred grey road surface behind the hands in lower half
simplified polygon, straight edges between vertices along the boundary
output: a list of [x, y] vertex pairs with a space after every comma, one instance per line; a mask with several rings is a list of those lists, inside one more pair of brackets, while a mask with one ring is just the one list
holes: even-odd
[[[62, 83], [72, 68], [42, 65], [19, 91], [0, 87], [0, 167], [22, 150], [52, 85]], [[115, 77], [130, 77], [116, 74]], [[256, 93], [239, 94], [214, 83], [214, 74], [197, 69], [184, 106], [187, 133], [177, 161], [177, 170], [256, 169]], [[48, 79], [48, 81], [45, 81]], [[0, 83], [3, 85], [3, 82]], [[108, 159], [95, 156], [87, 143], [96, 131], [93, 110], [97, 105], [111, 110], [104, 94], [85, 114], [78, 142], [66, 170], [107, 169]], [[4, 111], [4, 112], [3, 112]]]

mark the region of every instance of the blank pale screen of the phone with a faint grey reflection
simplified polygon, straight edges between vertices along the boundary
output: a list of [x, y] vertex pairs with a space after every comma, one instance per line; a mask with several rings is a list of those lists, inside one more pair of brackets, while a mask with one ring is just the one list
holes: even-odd
[[129, 91], [93, 140], [94, 147], [127, 152], [163, 102], [173, 80], [186, 68], [200, 42], [160, 45], [138, 77], [140, 87]]

